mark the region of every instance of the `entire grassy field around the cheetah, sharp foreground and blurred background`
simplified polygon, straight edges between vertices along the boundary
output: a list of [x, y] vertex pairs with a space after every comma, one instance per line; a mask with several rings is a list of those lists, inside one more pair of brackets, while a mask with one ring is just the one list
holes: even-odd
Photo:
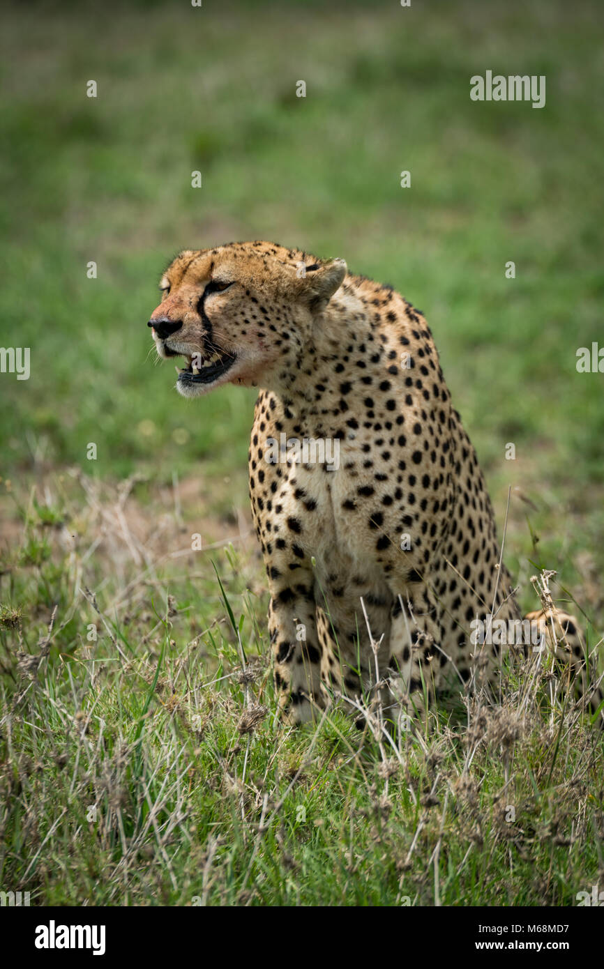
[[[559, 698], [544, 710], [543, 683], [505, 741], [512, 827], [500, 714], [477, 728], [472, 712], [468, 731], [435, 715], [403, 737], [402, 765], [387, 750], [396, 769], [339, 711], [316, 735], [278, 727], [246, 497], [254, 393], [183, 400], [146, 321], [177, 250], [236, 238], [395, 285], [428, 318], [500, 533], [512, 487], [522, 605], [555, 569], [595, 644], [604, 397], [575, 361], [602, 333], [601, 26], [595, 0], [5, 15], [0, 345], [31, 348], [31, 377], [0, 374], [3, 888], [56, 904], [572, 904], [596, 884], [601, 741]], [[472, 103], [487, 68], [546, 75], [546, 108]], [[188, 551], [194, 532], [216, 547]], [[263, 657], [247, 695], [212, 556]], [[250, 703], [267, 712], [241, 734]]]

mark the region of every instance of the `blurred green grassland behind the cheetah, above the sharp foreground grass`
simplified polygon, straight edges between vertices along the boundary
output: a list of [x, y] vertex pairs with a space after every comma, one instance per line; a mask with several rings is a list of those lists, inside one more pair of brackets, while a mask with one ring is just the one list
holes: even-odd
[[[28, 382], [0, 376], [5, 476], [201, 468], [217, 504], [243, 507], [254, 392], [183, 400], [146, 321], [180, 248], [267, 238], [420, 306], [499, 521], [521, 488], [533, 504], [513, 520], [532, 509], [554, 567], [585, 549], [604, 566], [604, 377], [575, 365], [604, 345], [598, 0], [28, 3], [3, 19], [0, 345], [31, 348]], [[545, 75], [546, 107], [473, 103], [487, 69]], [[511, 543], [530, 551], [525, 528]]]

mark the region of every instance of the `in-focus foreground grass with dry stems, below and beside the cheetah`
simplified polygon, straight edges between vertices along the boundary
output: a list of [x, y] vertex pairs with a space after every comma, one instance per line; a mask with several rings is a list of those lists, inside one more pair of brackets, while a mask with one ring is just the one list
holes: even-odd
[[4, 887], [52, 905], [467, 906], [573, 905], [598, 883], [604, 748], [547, 662], [413, 733], [376, 711], [359, 731], [336, 706], [284, 727], [252, 549], [130, 561], [124, 585], [119, 497], [102, 525], [98, 499], [69, 555], [68, 502], [50, 526], [32, 511], [5, 563], [22, 608], [0, 612]]

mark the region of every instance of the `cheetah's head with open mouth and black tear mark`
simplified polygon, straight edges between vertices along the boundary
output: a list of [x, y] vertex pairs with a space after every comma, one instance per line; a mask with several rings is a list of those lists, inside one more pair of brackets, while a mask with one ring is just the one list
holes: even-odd
[[176, 367], [183, 397], [226, 383], [267, 387], [296, 364], [313, 321], [346, 274], [343, 260], [306, 267], [303, 256], [243, 242], [175, 258], [148, 326], [161, 358], [186, 360]]

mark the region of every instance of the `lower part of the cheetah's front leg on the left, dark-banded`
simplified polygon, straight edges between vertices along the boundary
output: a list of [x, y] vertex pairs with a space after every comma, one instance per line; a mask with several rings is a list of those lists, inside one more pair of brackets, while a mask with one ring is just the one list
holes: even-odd
[[295, 585], [271, 588], [269, 631], [274, 684], [279, 707], [292, 724], [312, 720], [322, 706], [321, 648], [311, 593], [312, 576], [304, 586], [300, 571]]

